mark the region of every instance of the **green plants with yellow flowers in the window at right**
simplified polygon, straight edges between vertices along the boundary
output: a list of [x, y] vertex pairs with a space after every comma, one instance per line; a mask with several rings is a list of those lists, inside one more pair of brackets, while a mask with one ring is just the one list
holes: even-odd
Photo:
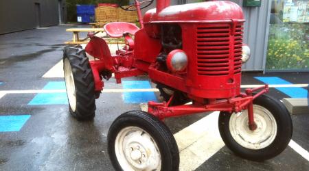
[[271, 25], [266, 69], [308, 69], [308, 25]]

